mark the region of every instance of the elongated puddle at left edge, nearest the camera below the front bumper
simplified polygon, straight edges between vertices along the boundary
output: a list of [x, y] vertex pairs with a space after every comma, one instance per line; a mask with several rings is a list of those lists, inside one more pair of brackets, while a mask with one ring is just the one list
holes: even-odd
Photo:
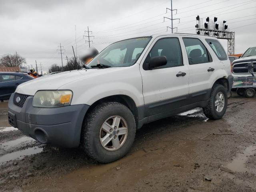
[[43, 148], [31, 147], [24, 150], [8, 153], [6, 155], [0, 156], [0, 163], [14, 160], [16, 158], [24, 158], [26, 155], [32, 155], [42, 152]]

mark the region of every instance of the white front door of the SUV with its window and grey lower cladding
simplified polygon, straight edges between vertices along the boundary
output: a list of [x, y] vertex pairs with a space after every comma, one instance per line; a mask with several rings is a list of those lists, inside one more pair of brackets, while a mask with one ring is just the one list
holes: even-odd
[[[145, 70], [143, 64], [155, 56], [166, 56], [167, 64]], [[157, 38], [140, 64], [145, 115], [165, 113], [186, 105], [189, 94], [189, 70], [183, 63], [178, 37]], [[182, 75], [180, 75], [182, 74]]]

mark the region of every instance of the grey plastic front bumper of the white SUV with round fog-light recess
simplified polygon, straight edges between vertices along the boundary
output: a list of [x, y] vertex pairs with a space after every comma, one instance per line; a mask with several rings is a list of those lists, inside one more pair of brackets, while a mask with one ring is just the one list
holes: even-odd
[[16, 118], [17, 128], [27, 136], [44, 144], [74, 148], [80, 144], [82, 123], [90, 106], [70, 105], [59, 108], [37, 108], [32, 106], [33, 96], [29, 96], [23, 107], [13, 103], [11, 95], [8, 108]]

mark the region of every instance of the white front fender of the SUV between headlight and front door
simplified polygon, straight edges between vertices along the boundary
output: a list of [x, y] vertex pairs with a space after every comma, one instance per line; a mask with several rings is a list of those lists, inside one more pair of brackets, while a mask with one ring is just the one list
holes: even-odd
[[[97, 69], [89, 69], [97, 70]], [[113, 95], [126, 95], [132, 98], [136, 106], [144, 104], [142, 95], [142, 78], [139, 65], [129, 67], [104, 68], [105, 73], [99, 73], [88, 78], [77, 80], [58, 89], [73, 91], [71, 105], [87, 104]]]

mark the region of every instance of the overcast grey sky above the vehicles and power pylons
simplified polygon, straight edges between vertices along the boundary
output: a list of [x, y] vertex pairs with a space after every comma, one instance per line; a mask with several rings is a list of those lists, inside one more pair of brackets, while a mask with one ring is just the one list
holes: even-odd
[[[0, 0], [0, 56], [17, 51], [34, 68], [35, 60], [42, 63], [44, 72], [61, 65], [60, 43], [66, 50], [63, 64], [73, 56], [72, 45], [78, 56], [86, 51], [87, 26], [98, 50], [117, 40], [166, 32], [166, 7], [170, 0]], [[174, 21], [178, 32], [195, 34], [197, 15], [216, 16], [236, 33], [236, 53], [256, 46], [256, 0], [173, 0], [173, 9], [180, 18], [180, 24]], [[227, 49], [227, 41], [221, 42]]]

